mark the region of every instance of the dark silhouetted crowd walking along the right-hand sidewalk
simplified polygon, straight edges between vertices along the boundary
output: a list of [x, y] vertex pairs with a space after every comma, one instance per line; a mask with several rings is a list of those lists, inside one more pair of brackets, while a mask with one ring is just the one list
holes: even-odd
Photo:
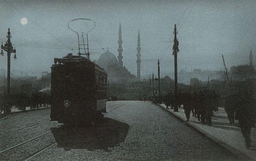
[[[197, 117], [202, 124], [212, 125], [213, 111], [218, 111], [221, 106], [220, 97], [214, 90], [204, 90], [194, 92], [178, 92], [176, 102], [178, 107], [183, 104], [183, 109], [187, 122], [190, 120], [190, 114]], [[224, 98], [225, 111], [230, 123], [234, 119], [238, 120], [241, 132], [244, 136], [246, 147], [250, 147], [250, 135], [252, 127], [256, 125], [256, 100], [248, 91], [239, 91], [238, 94], [230, 95]], [[163, 102], [166, 108], [174, 108], [174, 94], [164, 96]]]

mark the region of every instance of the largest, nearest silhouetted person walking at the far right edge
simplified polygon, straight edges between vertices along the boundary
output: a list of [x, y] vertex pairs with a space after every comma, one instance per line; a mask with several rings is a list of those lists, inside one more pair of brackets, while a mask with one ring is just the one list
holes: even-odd
[[237, 104], [238, 123], [245, 139], [246, 148], [250, 148], [250, 135], [253, 123], [254, 103], [248, 91], [242, 91]]

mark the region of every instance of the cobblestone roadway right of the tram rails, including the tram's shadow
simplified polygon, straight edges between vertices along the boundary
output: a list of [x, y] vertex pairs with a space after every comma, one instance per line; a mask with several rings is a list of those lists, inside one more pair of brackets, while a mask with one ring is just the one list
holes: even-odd
[[92, 127], [49, 126], [57, 144], [31, 160], [239, 160], [151, 102], [107, 102], [107, 112]]

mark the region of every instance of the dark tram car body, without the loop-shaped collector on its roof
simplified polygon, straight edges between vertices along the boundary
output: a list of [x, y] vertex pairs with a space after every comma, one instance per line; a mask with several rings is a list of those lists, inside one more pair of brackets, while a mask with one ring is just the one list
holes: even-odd
[[107, 73], [89, 59], [68, 54], [51, 67], [51, 121], [95, 122], [106, 112]]

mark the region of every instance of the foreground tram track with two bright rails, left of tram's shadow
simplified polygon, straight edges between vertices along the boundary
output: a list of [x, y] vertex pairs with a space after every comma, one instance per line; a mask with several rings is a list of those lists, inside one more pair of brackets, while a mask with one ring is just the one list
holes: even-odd
[[51, 131], [0, 151], [1, 160], [29, 160], [57, 144]]

